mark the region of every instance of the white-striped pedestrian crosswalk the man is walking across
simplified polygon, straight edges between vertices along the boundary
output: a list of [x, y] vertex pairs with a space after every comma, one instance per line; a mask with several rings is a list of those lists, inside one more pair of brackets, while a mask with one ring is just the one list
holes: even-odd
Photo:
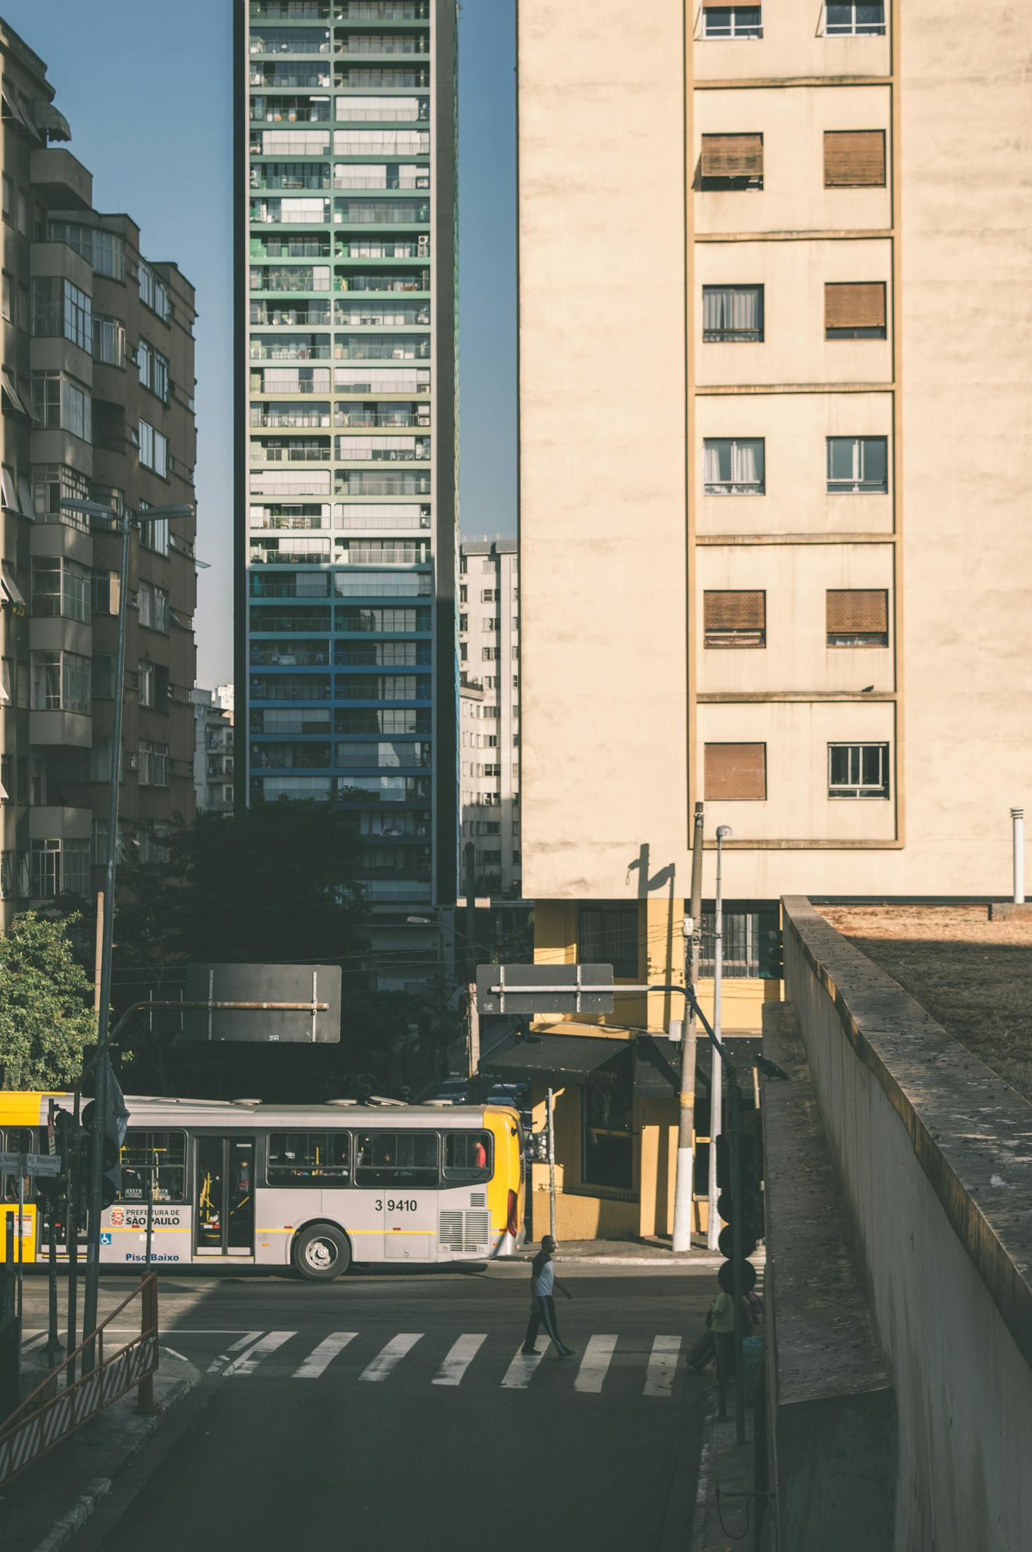
[[[323, 1380], [360, 1384], [430, 1383], [455, 1389], [467, 1384], [498, 1384], [503, 1391], [528, 1391], [539, 1380], [543, 1366], [565, 1370], [573, 1377], [574, 1394], [601, 1395], [616, 1383], [632, 1383], [642, 1397], [672, 1397], [678, 1377], [683, 1338], [677, 1335], [621, 1338], [593, 1333], [580, 1350], [559, 1363], [549, 1344], [539, 1350], [512, 1352], [500, 1339], [489, 1341], [486, 1332], [462, 1332], [442, 1350], [441, 1333], [329, 1332], [309, 1347], [310, 1335], [301, 1332], [244, 1332], [234, 1342], [208, 1363], [210, 1375], [225, 1380], [264, 1378]], [[188, 1333], [175, 1339], [186, 1344]], [[371, 1341], [369, 1341], [371, 1338]], [[447, 1338], [445, 1338], [447, 1342]], [[354, 1344], [354, 1346], [352, 1346]], [[372, 1350], [374, 1349], [374, 1350]]]

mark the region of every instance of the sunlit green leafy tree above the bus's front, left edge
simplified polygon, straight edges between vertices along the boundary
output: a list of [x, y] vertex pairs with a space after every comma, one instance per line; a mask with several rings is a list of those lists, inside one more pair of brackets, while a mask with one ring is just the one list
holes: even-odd
[[76, 920], [25, 911], [0, 937], [3, 1088], [67, 1088], [79, 1079], [96, 1018], [93, 987], [71, 945]]

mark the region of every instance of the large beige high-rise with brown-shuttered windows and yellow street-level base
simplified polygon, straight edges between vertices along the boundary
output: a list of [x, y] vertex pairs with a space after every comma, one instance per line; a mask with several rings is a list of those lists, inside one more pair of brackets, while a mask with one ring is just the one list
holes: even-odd
[[[584, 911], [622, 903], [635, 979], [677, 975], [697, 799], [754, 948], [785, 892], [1006, 894], [1032, 754], [1024, 19], [518, 14], [539, 956], [587, 958]], [[759, 958], [725, 1026], [777, 993]]]

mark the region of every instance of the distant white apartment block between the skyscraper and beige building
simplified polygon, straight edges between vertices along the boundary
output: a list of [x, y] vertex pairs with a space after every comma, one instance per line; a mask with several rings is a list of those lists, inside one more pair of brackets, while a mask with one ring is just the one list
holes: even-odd
[[[520, 563], [515, 539], [459, 549], [462, 888], [521, 896]], [[470, 854], [472, 846], [472, 854]]]

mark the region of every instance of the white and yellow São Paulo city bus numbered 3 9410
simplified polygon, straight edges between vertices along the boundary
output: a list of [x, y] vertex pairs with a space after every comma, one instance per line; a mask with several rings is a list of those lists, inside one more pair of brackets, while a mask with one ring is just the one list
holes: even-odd
[[[47, 1150], [50, 1099], [71, 1108], [68, 1094], [0, 1093], [0, 1152]], [[352, 1262], [475, 1262], [520, 1245], [523, 1136], [506, 1107], [140, 1096], [126, 1107], [121, 1192], [101, 1218], [102, 1262], [143, 1263], [147, 1214], [158, 1268], [234, 1262], [323, 1280]], [[47, 1254], [31, 1184], [26, 1263]], [[0, 1211], [17, 1211], [17, 1181], [0, 1180]], [[61, 1240], [57, 1254], [65, 1259]]]

